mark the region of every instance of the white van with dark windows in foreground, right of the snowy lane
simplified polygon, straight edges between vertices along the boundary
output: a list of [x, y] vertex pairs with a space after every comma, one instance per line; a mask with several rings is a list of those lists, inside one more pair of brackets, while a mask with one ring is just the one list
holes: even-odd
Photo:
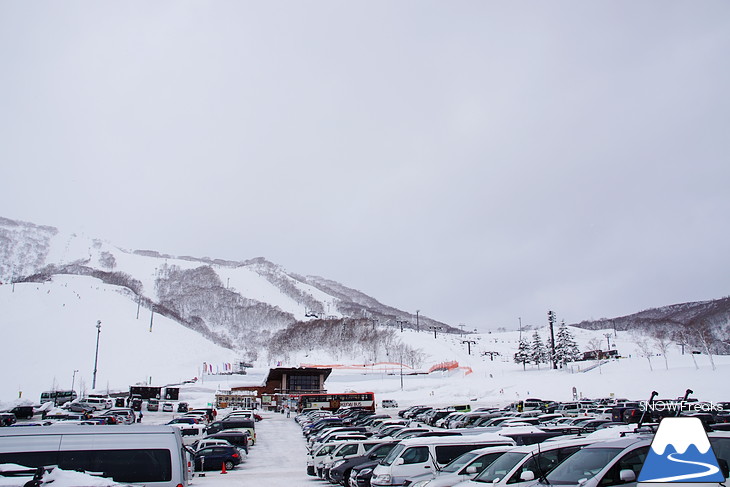
[[406, 479], [435, 472], [454, 458], [477, 448], [514, 445], [515, 441], [494, 433], [469, 436], [409, 438], [398, 443], [373, 469], [370, 485], [403, 485]]

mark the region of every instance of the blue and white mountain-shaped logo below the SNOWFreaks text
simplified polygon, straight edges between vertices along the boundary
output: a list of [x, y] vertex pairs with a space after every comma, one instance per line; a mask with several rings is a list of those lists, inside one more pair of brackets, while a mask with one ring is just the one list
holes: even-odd
[[699, 418], [662, 419], [639, 482], [725, 482]]

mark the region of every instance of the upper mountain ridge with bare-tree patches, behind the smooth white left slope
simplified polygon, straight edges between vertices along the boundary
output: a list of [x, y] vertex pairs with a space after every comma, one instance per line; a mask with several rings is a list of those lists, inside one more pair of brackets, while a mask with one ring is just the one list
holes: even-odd
[[86, 275], [122, 286], [140, 306], [232, 349], [265, 343], [278, 330], [322, 318], [404, 321], [405, 327], [458, 331], [340, 283], [290, 273], [262, 257], [234, 262], [130, 251], [0, 218], [0, 281], [43, 282], [54, 275]]

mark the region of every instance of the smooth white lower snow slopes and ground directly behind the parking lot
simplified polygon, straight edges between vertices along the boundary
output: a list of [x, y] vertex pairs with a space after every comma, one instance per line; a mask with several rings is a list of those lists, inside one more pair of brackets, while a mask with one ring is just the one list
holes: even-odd
[[[217, 346], [174, 321], [142, 309], [123, 290], [96, 279], [79, 276], [56, 277], [52, 282], [0, 286], [2, 340], [0, 365], [6, 371], [0, 381], [0, 403], [38, 403], [40, 393], [49, 389], [69, 389], [72, 381], [79, 393], [89, 392], [93, 381], [97, 321], [99, 337], [97, 390], [127, 391], [130, 385], [177, 384], [198, 378], [183, 389], [183, 397], [207, 404], [216, 389], [234, 385], [262, 384], [269, 367], [281, 357], [265, 353], [245, 376], [203, 374], [203, 363], [213, 372], [235, 363], [235, 351]], [[151, 325], [151, 326], [150, 326]], [[539, 330], [543, 340], [547, 329]], [[654, 356], [651, 364], [637, 353], [637, 337], [611, 331], [572, 329], [581, 350], [591, 339], [610, 333], [610, 344], [624, 357], [594, 367], [595, 362], [577, 362], [562, 370], [516, 364], [518, 331], [470, 334], [465, 336], [413, 330], [397, 332], [401, 339], [420, 349], [425, 359], [418, 369], [401, 367], [382, 351], [373, 365], [365, 358], [346, 359], [317, 350], [292, 353], [282, 366], [350, 365], [335, 368], [326, 383], [332, 392], [372, 391], [378, 400], [395, 399], [401, 406], [416, 403], [448, 405], [469, 402], [480, 405], [505, 404], [528, 396], [569, 400], [577, 395], [596, 398], [615, 395], [643, 399], [652, 390], [661, 397], [681, 396], [690, 388], [694, 396], [711, 401], [730, 401], [725, 378], [730, 357], [715, 356], [713, 370], [706, 355], [682, 354], [673, 347], [664, 357]], [[528, 339], [533, 331], [524, 331]], [[465, 340], [471, 340], [471, 354]], [[496, 352], [498, 355], [485, 355]], [[492, 360], [493, 358], [493, 360]], [[460, 368], [425, 374], [433, 365], [457, 361]], [[358, 367], [359, 366], [359, 367]], [[653, 368], [653, 370], [651, 370]], [[75, 372], [77, 371], [77, 372]], [[411, 375], [421, 372], [418, 375]], [[402, 385], [401, 385], [402, 384]], [[202, 390], [202, 396], [195, 390]], [[186, 400], [186, 399], [182, 399]]]

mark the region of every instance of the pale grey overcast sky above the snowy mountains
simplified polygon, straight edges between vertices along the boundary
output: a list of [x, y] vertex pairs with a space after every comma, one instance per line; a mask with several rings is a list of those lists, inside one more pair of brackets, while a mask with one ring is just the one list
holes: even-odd
[[730, 294], [727, 1], [0, 3], [0, 216], [457, 326]]

